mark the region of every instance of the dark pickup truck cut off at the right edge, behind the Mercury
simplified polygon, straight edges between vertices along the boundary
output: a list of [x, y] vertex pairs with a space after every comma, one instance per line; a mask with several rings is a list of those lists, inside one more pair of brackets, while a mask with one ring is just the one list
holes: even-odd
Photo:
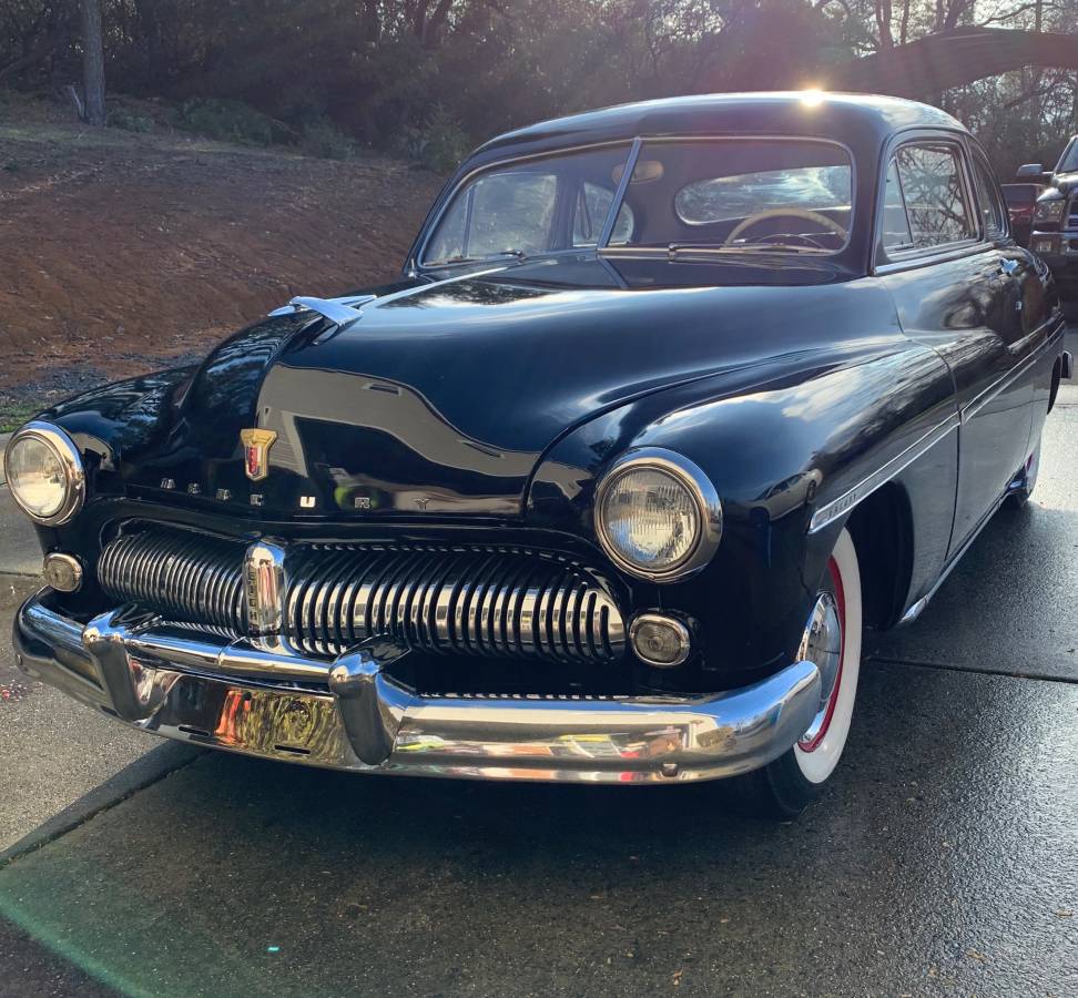
[[1062, 297], [1078, 303], [1078, 135], [1067, 143], [1055, 171], [1043, 171], [1040, 163], [1018, 170], [1020, 179], [1048, 184], [1037, 198], [1029, 246], [1051, 267]]

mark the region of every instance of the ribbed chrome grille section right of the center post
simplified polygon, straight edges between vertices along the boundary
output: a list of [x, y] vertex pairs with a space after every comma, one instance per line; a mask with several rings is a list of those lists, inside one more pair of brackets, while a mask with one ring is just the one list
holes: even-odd
[[588, 569], [546, 552], [312, 544], [288, 564], [289, 634], [334, 654], [372, 634], [465, 654], [612, 662], [617, 603]]

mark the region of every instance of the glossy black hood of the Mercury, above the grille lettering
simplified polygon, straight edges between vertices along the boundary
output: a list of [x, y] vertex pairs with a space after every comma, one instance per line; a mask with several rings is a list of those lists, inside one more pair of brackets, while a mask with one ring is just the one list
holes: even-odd
[[[797, 269], [574, 261], [398, 285], [346, 326], [271, 317], [202, 365], [129, 481], [299, 517], [518, 516], [576, 426], [810, 348], [801, 330], [825, 328], [811, 313], [838, 288], [825, 266]], [[275, 436], [248, 465], [255, 427]]]

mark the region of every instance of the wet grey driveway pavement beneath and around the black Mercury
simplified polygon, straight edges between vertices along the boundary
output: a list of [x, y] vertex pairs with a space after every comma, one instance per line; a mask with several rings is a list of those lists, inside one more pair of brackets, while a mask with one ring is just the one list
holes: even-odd
[[1076, 594], [1068, 386], [1036, 501], [878, 643], [795, 824], [722, 784], [177, 753], [26, 684], [0, 703], [0, 995], [1078, 995]]

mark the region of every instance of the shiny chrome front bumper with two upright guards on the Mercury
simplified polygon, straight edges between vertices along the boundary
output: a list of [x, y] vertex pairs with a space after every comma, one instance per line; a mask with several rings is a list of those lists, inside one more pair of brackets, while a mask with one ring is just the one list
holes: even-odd
[[424, 696], [384, 670], [417, 654], [372, 639], [322, 662], [121, 609], [82, 627], [44, 589], [19, 611], [19, 666], [166, 737], [336, 770], [642, 783], [733, 776], [807, 730], [820, 673], [796, 662], [709, 696]]

